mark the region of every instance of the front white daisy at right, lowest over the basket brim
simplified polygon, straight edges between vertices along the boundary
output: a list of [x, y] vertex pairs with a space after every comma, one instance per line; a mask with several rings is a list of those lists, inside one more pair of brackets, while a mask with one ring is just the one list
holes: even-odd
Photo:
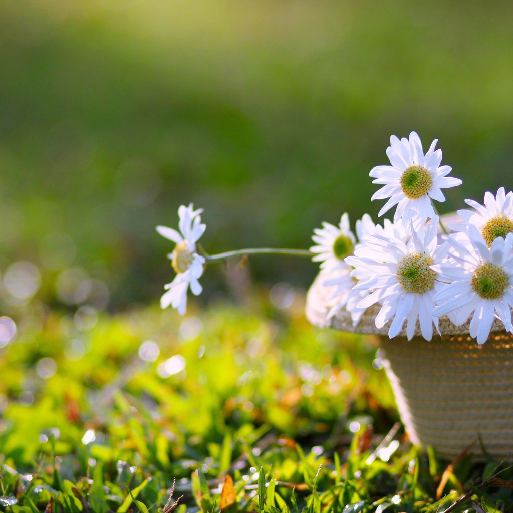
[[[466, 240], [464, 240], [466, 239]], [[436, 315], [453, 314], [452, 322], [470, 321], [470, 336], [486, 342], [494, 319], [511, 331], [513, 306], [513, 234], [497, 237], [488, 247], [476, 226], [450, 236], [452, 262], [433, 265], [438, 279], [447, 285], [435, 295]]]

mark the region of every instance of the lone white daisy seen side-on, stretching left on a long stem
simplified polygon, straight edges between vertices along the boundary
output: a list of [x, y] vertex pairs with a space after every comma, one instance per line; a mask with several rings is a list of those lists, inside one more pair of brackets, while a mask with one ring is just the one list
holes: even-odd
[[156, 228], [163, 237], [176, 244], [173, 252], [167, 255], [176, 271], [176, 276], [172, 282], [164, 285], [167, 292], [161, 298], [161, 307], [167, 308], [171, 305], [181, 315], [187, 309], [189, 286], [195, 295], [201, 294], [203, 290], [198, 279], [203, 274], [205, 258], [196, 252], [196, 242], [206, 228], [204, 224], [201, 224], [200, 214], [202, 212], [202, 209], [194, 210], [192, 203], [188, 207], [182, 205], [178, 209], [181, 233], [166, 226], [157, 226]]

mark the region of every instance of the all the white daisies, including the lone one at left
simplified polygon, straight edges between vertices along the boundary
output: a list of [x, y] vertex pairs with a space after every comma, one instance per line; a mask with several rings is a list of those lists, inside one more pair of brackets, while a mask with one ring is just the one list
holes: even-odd
[[[433, 201], [445, 201], [442, 189], [462, 182], [441, 165], [436, 144], [424, 153], [417, 133], [401, 140], [392, 135], [386, 151], [390, 165], [374, 167], [370, 176], [383, 185], [371, 199], [388, 200], [380, 216], [396, 207], [393, 222], [374, 224], [365, 214], [355, 235], [344, 213], [338, 226], [323, 223], [314, 230], [310, 253], [320, 262], [322, 284], [332, 291], [328, 315], [345, 309], [357, 326], [377, 304], [374, 322], [378, 328], [389, 323], [390, 338], [405, 329], [411, 339], [418, 326], [426, 340], [433, 330], [440, 333], [442, 315], [456, 325], [471, 318], [470, 336], [482, 344], [496, 319], [513, 330], [513, 192], [486, 192], [483, 205], [466, 200], [470, 209], [458, 211], [460, 222], [443, 226]], [[208, 255], [196, 247], [205, 231], [200, 214], [192, 205], [180, 207], [181, 234], [157, 227], [176, 244], [169, 254], [176, 277], [165, 286], [163, 308], [171, 304], [184, 313], [189, 286], [194, 294], [201, 292], [198, 279]]]

